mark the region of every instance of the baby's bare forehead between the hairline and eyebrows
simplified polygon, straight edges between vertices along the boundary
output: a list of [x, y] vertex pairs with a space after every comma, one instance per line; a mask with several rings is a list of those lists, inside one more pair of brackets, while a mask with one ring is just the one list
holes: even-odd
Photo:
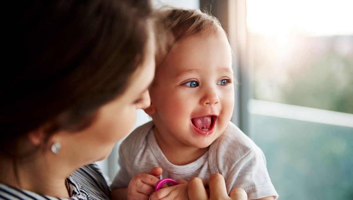
[[[224, 33], [190, 35], [179, 39], [169, 49], [161, 64], [156, 66], [156, 76], [178, 76], [201, 73], [204, 66], [231, 69], [232, 55]], [[160, 72], [163, 73], [160, 73]]]

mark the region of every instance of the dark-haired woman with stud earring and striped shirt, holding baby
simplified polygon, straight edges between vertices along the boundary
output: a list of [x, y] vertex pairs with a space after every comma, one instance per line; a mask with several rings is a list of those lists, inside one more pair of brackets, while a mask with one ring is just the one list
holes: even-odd
[[[149, 105], [150, 2], [38, 0], [8, 9], [16, 29], [6, 48], [16, 60], [6, 62], [1, 85], [0, 199], [109, 199], [89, 163], [106, 158]], [[211, 199], [224, 196], [221, 178], [210, 178]], [[208, 199], [201, 179], [189, 185], [190, 199]]]

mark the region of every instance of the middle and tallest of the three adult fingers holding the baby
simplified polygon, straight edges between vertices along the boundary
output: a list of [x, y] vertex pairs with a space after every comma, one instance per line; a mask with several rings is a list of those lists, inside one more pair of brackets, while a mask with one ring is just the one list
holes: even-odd
[[211, 174], [208, 180], [210, 199], [227, 199], [226, 182], [221, 174]]

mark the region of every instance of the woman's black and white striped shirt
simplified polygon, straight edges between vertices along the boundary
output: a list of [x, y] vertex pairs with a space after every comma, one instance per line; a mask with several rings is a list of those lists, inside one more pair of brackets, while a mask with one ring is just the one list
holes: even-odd
[[71, 198], [56, 198], [0, 183], [0, 200], [107, 200], [110, 187], [96, 164], [85, 165], [66, 179]]

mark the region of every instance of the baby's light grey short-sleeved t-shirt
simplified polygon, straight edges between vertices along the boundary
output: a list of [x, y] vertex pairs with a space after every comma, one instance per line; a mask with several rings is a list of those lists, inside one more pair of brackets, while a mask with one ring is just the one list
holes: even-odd
[[120, 170], [112, 189], [127, 187], [139, 173], [149, 173], [154, 167], [163, 169], [162, 178], [189, 181], [193, 177], [208, 180], [214, 173], [225, 177], [227, 192], [243, 188], [249, 199], [278, 194], [271, 183], [262, 150], [237, 126], [229, 122], [226, 130], [198, 160], [186, 165], [170, 163], [159, 148], [150, 121], [134, 130], [121, 144]]

